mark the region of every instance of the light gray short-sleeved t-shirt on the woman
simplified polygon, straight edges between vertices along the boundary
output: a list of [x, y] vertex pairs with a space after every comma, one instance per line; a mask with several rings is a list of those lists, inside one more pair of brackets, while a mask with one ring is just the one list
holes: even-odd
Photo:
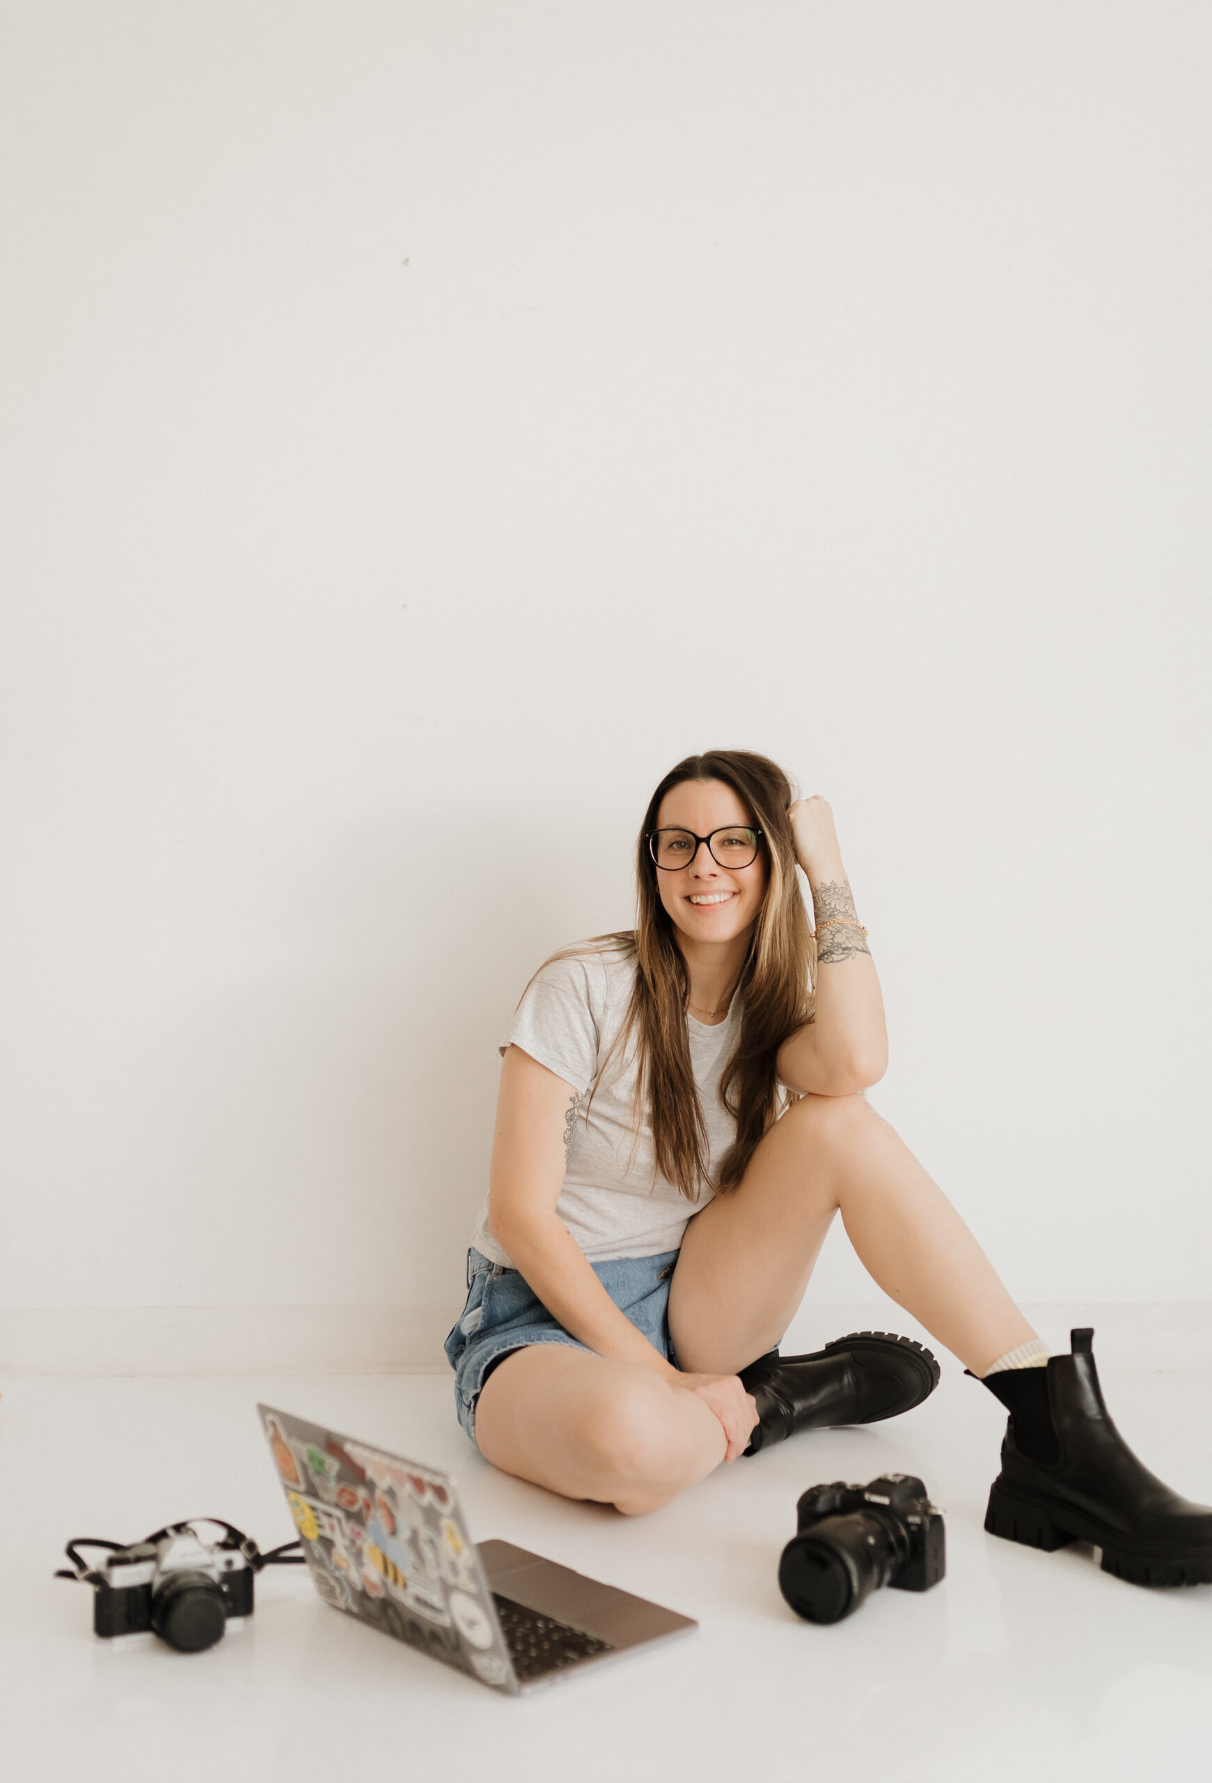
[[[635, 957], [620, 949], [551, 961], [528, 988], [501, 1043], [501, 1052], [506, 1047], [529, 1052], [581, 1095], [576, 1113], [570, 1111], [569, 1163], [556, 1212], [590, 1262], [677, 1250], [686, 1221], [713, 1196], [700, 1184], [692, 1202], [656, 1175], [643, 1111], [635, 1127], [635, 1034], [626, 1057], [615, 1054], [606, 1064], [627, 1013], [635, 970]], [[727, 1020], [717, 1027], [686, 1016], [711, 1175], [736, 1138], [736, 1122], [720, 1102], [720, 1075], [740, 1032], [740, 1004], [734, 997]], [[510, 1262], [488, 1230], [487, 1200], [472, 1245], [492, 1262]]]

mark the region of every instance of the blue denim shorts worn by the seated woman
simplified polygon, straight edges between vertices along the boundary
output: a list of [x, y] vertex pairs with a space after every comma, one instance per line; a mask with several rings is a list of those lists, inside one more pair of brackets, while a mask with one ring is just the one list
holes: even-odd
[[[656, 1257], [611, 1257], [592, 1264], [620, 1312], [636, 1330], [677, 1368], [668, 1335], [668, 1284], [677, 1262], [676, 1250]], [[454, 1409], [467, 1435], [476, 1441], [476, 1401], [485, 1378], [510, 1350], [531, 1343], [563, 1343], [592, 1353], [577, 1343], [554, 1314], [538, 1300], [517, 1269], [490, 1262], [478, 1250], [467, 1252], [467, 1305], [446, 1339], [446, 1359], [454, 1369]]]

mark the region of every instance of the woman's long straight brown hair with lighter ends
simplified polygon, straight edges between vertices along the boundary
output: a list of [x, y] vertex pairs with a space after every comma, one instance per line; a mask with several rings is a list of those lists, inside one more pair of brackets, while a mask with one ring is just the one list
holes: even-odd
[[736, 1120], [736, 1139], [720, 1159], [713, 1187], [722, 1193], [734, 1189], [758, 1143], [786, 1105], [775, 1056], [782, 1041], [811, 1020], [816, 990], [816, 943], [795, 877], [795, 836], [788, 818], [791, 785], [782, 768], [743, 749], [709, 749], [670, 768], [649, 801], [636, 842], [635, 933], [601, 934], [554, 957], [579, 954], [586, 947], [635, 954], [635, 990], [611, 1054], [626, 1054], [635, 1036], [636, 1123], [647, 1113], [658, 1171], [693, 1200], [700, 1184], [711, 1179], [708, 1130], [686, 1032], [690, 977], [649, 852], [661, 799], [683, 781], [731, 786], [761, 831], [766, 859], [766, 893], [734, 993], [741, 997], [741, 1031], [720, 1079], [720, 1097]]

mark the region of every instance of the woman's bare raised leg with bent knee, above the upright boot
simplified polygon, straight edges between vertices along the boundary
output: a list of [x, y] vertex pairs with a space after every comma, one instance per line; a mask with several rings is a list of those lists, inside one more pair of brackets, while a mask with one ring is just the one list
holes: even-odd
[[738, 1373], [781, 1341], [838, 1209], [873, 1280], [973, 1373], [1036, 1335], [895, 1129], [863, 1097], [813, 1095], [686, 1228], [668, 1305], [683, 1368]]

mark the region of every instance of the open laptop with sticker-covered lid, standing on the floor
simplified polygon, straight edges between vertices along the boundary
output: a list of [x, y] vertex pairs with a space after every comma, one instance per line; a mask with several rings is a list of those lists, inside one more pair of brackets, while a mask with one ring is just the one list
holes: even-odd
[[695, 1628], [512, 1542], [472, 1542], [454, 1480], [258, 1405], [315, 1589], [510, 1696]]

